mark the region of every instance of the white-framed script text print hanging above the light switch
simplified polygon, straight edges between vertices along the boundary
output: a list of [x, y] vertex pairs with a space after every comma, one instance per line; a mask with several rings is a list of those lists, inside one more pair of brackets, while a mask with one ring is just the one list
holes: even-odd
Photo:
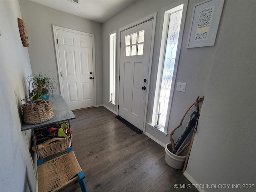
[[194, 5], [187, 48], [214, 46], [224, 0], [206, 0]]

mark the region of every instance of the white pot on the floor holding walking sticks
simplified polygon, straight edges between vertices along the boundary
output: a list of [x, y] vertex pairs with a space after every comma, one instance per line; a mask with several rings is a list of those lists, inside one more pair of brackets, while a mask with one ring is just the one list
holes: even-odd
[[172, 152], [172, 144], [168, 143], [165, 146], [165, 161], [166, 163], [174, 169], [182, 169], [187, 157], [187, 150], [182, 152], [181, 156], [175, 155]]

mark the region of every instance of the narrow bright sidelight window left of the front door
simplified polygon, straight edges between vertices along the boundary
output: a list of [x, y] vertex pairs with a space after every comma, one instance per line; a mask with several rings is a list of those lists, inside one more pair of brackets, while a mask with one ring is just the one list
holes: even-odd
[[110, 102], [116, 98], [116, 33], [110, 34]]

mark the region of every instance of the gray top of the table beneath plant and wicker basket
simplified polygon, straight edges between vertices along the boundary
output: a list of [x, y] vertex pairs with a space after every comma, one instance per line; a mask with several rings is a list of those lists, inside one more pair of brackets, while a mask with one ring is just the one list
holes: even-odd
[[49, 100], [51, 102], [51, 107], [54, 114], [53, 118], [46, 122], [34, 125], [23, 123], [21, 127], [22, 131], [43, 127], [51, 124], [56, 124], [58, 122], [72, 120], [76, 118], [76, 116], [74, 115], [72, 110], [70, 110], [70, 108], [68, 107], [68, 105], [66, 104], [66, 102], [60, 94], [54, 94], [54, 98], [50, 97]]

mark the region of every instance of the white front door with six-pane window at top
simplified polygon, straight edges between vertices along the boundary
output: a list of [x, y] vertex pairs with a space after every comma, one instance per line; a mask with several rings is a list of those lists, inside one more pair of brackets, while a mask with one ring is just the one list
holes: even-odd
[[119, 116], [143, 130], [153, 20], [121, 32]]

